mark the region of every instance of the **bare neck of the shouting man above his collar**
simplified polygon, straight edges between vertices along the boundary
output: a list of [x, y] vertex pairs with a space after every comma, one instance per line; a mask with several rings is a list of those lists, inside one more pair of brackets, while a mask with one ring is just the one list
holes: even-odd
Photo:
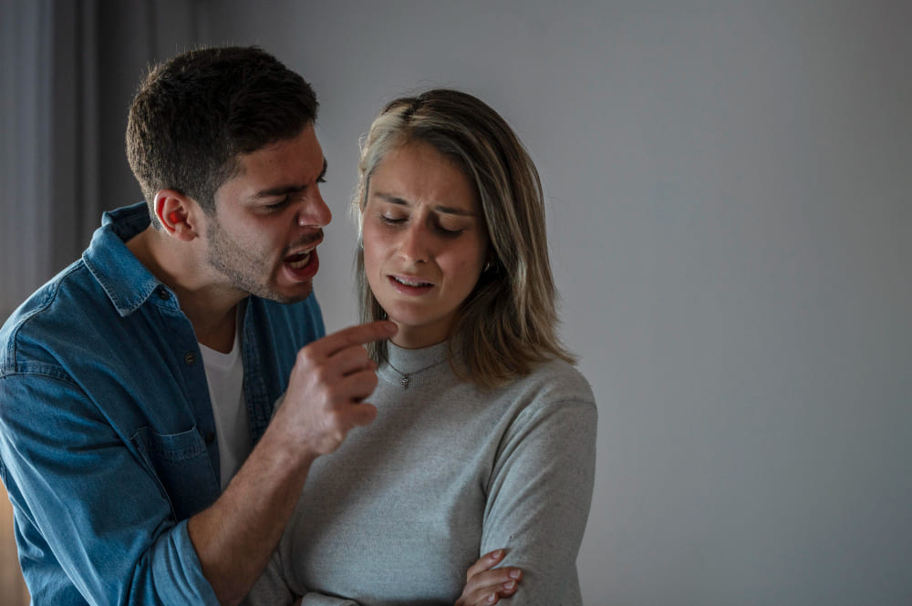
[[177, 294], [197, 341], [229, 353], [234, 344], [237, 303], [243, 293], [208, 282], [199, 269], [203, 263], [193, 256], [190, 244], [171, 241], [151, 226], [127, 241], [127, 248]]

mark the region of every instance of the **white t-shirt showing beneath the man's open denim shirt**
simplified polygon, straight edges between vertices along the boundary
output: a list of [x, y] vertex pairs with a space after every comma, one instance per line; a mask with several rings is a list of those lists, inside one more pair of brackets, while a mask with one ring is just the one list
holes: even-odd
[[[238, 312], [238, 315], [241, 315]], [[222, 489], [228, 486], [244, 459], [250, 454], [250, 421], [244, 398], [244, 358], [241, 355], [241, 327], [234, 331], [231, 352], [223, 354], [200, 344], [202, 364], [209, 382], [215, 435], [219, 440]]]

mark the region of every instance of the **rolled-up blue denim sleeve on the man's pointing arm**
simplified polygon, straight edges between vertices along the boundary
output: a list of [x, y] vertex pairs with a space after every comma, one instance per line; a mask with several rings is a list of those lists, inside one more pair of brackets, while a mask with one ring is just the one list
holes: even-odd
[[0, 472], [33, 603], [71, 583], [72, 603], [216, 606], [186, 519], [121, 431], [54, 368], [0, 378]]

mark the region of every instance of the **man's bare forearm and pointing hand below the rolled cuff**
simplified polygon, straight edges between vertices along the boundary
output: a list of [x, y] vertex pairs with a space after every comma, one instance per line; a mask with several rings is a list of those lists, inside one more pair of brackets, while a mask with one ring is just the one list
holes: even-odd
[[377, 415], [364, 403], [377, 376], [363, 345], [394, 333], [394, 324], [376, 322], [303, 348], [263, 438], [222, 497], [190, 519], [203, 574], [223, 605], [240, 603], [264, 570], [316, 457]]

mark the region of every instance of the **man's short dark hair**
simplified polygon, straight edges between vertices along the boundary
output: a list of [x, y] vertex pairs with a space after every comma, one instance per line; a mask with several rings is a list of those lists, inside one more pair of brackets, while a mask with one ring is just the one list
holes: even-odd
[[210, 214], [238, 156], [316, 120], [313, 88], [257, 46], [198, 48], [152, 67], [130, 105], [127, 159], [150, 206], [172, 189]]

